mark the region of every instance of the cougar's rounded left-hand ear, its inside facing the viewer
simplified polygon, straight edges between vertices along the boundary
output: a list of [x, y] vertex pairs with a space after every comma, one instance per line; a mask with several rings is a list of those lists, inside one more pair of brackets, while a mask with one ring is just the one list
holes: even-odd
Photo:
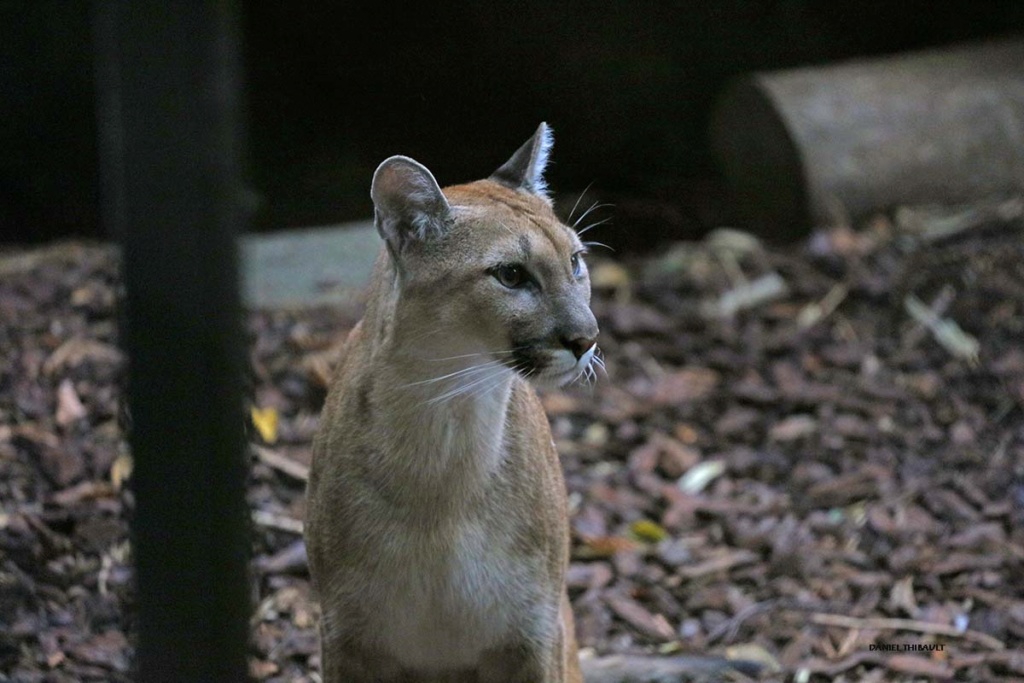
[[433, 174], [409, 157], [391, 157], [377, 167], [370, 197], [374, 224], [394, 255], [412, 242], [441, 234], [451, 223], [451, 208]]

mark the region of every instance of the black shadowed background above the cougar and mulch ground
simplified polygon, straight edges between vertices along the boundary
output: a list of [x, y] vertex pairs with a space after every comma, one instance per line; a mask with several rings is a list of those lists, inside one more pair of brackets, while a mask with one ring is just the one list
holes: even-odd
[[[755, 70], [994, 37], [1024, 3], [911, 0], [246, 3], [254, 229], [370, 215], [376, 165], [441, 184], [485, 175], [541, 120], [556, 195], [692, 237], [728, 220], [707, 140], [716, 97]], [[0, 4], [0, 236], [105, 237], [90, 5]], [[666, 234], [648, 236], [648, 242]]]

